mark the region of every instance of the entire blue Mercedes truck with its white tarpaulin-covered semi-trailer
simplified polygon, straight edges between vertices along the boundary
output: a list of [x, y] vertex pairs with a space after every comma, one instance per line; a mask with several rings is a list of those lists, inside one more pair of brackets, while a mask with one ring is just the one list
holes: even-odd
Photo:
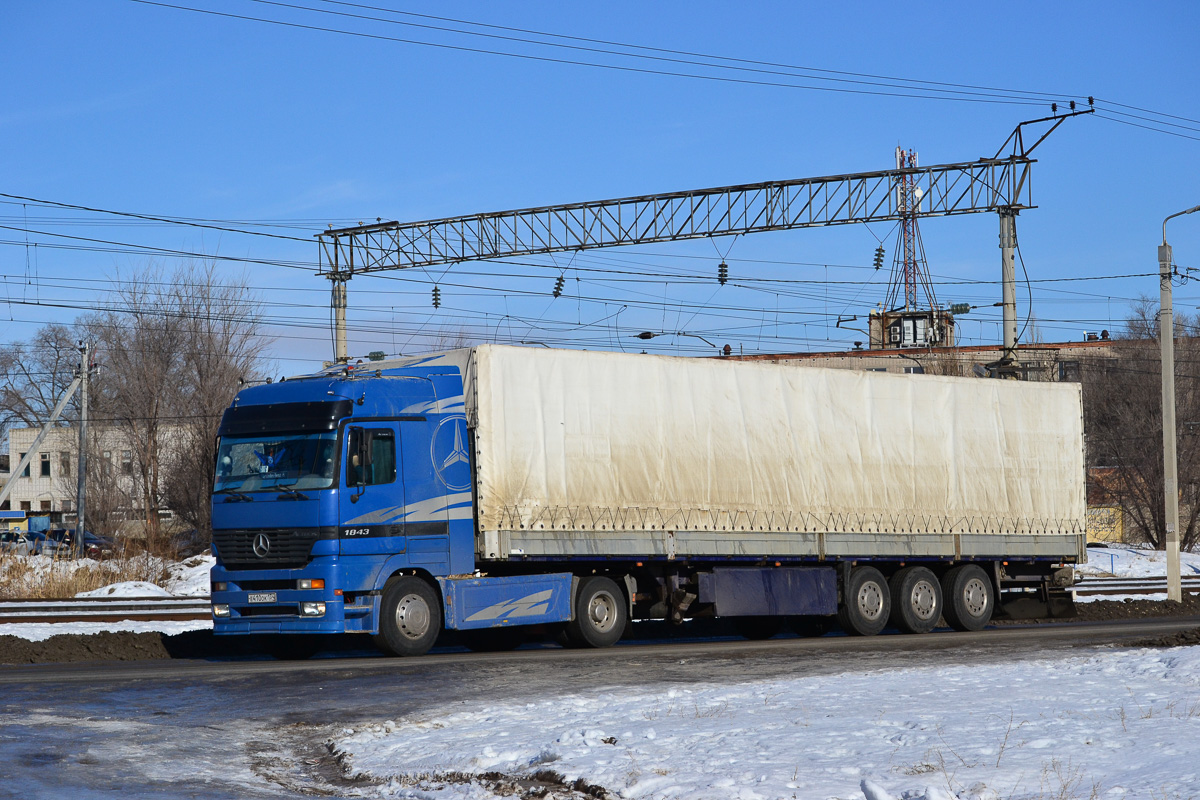
[[1085, 558], [1082, 449], [1072, 384], [499, 345], [329, 369], [226, 413], [216, 628], [977, 630]]

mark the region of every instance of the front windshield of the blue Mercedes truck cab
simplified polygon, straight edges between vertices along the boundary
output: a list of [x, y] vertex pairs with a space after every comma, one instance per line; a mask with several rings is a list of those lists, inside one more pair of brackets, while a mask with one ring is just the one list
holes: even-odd
[[221, 437], [214, 492], [323, 489], [334, 483], [337, 433]]

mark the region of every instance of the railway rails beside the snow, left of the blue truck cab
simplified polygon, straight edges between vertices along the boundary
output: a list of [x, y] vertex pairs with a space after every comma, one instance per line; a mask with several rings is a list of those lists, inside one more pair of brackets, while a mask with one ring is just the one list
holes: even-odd
[[188, 621], [211, 616], [212, 606], [206, 596], [0, 600], [0, 624]]

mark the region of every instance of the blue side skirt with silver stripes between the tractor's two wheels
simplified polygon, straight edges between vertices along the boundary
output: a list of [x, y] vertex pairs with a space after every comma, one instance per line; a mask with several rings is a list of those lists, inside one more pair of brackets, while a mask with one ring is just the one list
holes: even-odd
[[571, 619], [570, 572], [504, 578], [438, 578], [445, 626], [457, 631], [514, 627]]

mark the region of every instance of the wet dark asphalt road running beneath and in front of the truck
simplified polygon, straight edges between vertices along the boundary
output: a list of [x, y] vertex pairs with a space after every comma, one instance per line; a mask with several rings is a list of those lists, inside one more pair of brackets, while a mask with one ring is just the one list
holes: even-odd
[[302, 662], [154, 661], [0, 667], [0, 796], [346, 796], [324, 742], [427, 708], [656, 684], [736, 682], [896, 666], [1082, 654], [1200, 626], [1200, 618], [1006, 626], [608, 650], [348, 655]]

